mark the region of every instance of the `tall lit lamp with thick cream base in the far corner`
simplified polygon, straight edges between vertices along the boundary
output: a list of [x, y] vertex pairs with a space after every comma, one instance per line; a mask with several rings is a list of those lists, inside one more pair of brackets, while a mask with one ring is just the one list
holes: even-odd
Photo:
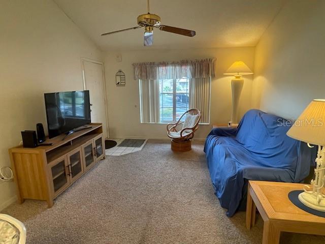
[[234, 75], [235, 79], [232, 79], [232, 97], [233, 97], [233, 110], [232, 110], [232, 118], [229, 121], [229, 126], [238, 124], [238, 104], [240, 94], [243, 89], [244, 79], [242, 79], [242, 75], [251, 75], [253, 72], [248, 68], [248, 66], [242, 61], [236, 61], [232, 64], [231, 67], [224, 73], [224, 75]]

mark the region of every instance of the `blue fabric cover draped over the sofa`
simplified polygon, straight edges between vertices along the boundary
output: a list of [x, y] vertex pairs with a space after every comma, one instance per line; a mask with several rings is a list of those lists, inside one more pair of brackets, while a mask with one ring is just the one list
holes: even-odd
[[235, 214], [245, 179], [301, 182], [309, 174], [315, 150], [286, 135], [285, 119], [251, 109], [238, 128], [215, 128], [204, 152], [210, 177], [226, 215]]

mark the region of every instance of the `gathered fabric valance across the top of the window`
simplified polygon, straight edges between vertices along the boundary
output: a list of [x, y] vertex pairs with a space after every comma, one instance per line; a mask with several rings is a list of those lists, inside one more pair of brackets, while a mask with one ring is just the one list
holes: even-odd
[[137, 63], [133, 66], [136, 80], [215, 77], [215, 58], [182, 60], [180, 62]]

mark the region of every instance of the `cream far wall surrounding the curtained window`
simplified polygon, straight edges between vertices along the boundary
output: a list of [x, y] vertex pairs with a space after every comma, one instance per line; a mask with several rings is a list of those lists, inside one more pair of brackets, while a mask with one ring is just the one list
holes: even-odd
[[[171, 34], [172, 35], [172, 34]], [[116, 55], [122, 56], [118, 62]], [[141, 124], [139, 82], [134, 80], [133, 63], [179, 61], [216, 57], [216, 78], [211, 86], [211, 125], [201, 125], [194, 138], [205, 138], [215, 123], [228, 123], [231, 118], [231, 76], [223, 73], [236, 60], [253, 68], [254, 48], [168, 49], [105, 53], [105, 75], [108, 96], [110, 138], [165, 138], [166, 124]], [[126, 75], [126, 86], [115, 85], [115, 74], [121, 69]], [[251, 107], [252, 76], [245, 76], [240, 101], [240, 115]]]

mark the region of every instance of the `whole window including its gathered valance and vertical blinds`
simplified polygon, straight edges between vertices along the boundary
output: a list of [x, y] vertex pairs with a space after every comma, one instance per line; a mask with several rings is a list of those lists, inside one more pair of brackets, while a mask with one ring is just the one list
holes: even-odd
[[171, 123], [197, 108], [201, 111], [200, 124], [210, 124], [214, 58], [133, 66], [139, 80], [141, 123]]

